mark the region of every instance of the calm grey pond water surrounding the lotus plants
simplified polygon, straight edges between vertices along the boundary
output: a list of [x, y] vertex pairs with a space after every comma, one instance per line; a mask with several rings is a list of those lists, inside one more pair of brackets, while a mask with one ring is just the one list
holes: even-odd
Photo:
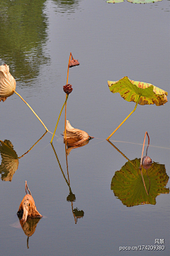
[[[0, 156], [1, 255], [170, 255], [169, 102], [137, 106], [112, 144], [106, 141], [135, 107], [111, 93], [108, 80], [127, 75], [169, 92], [169, 6], [166, 0], [1, 0], [0, 60], [9, 65], [16, 92], [54, 132], [72, 52], [80, 65], [69, 69], [67, 119], [94, 137], [69, 152], [68, 177], [64, 112], [52, 147], [52, 134], [42, 137], [45, 128], [18, 95], [0, 102], [1, 146], [8, 140], [15, 151], [9, 154], [13, 167]], [[132, 163], [140, 163], [146, 131], [155, 162], [149, 179], [144, 175], [149, 197], [132, 170]], [[44, 218], [22, 229], [16, 213], [25, 181]], [[154, 250], [156, 245], [162, 247]]]

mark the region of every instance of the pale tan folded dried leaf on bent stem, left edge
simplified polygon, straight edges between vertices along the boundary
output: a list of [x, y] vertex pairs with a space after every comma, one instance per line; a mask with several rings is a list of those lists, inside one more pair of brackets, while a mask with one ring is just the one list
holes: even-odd
[[16, 80], [9, 73], [8, 65], [0, 66], [0, 102], [4, 102], [7, 97], [13, 95], [16, 90]]

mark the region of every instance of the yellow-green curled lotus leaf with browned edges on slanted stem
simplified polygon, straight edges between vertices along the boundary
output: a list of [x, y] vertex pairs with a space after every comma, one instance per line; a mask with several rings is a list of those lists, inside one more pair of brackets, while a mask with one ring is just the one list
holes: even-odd
[[128, 102], [137, 102], [140, 97], [140, 105], [160, 106], [168, 101], [168, 92], [147, 82], [130, 80], [127, 76], [118, 81], [108, 81], [108, 87], [113, 93], [119, 92]]

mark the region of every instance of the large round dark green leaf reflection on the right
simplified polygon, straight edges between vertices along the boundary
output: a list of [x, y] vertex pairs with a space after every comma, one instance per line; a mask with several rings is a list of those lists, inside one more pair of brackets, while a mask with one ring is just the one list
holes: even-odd
[[149, 195], [145, 192], [142, 176], [140, 175], [140, 159], [134, 159], [116, 171], [111, 181], [111, 190], [125, 206], [156, 204], [155, 198], [161, 193], [169, 193], [166, 184], [169, 176], [164, 164], [152, 163], [149, 169], [142, 168], [142, 174]]

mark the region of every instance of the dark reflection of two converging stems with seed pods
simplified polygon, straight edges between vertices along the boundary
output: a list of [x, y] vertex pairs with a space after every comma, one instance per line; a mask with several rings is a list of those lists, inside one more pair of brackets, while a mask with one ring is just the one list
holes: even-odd
[[[57, 162], [58, 162], [58, 164], [60, 166], [60, 170], [62, 171], [62, 166], [61, 166], [60, 161], [58, 159], [58, 156], [57, 156], [57, 153], [55, 151], [55, 148], [54, 148], [52, 143], [51, 143], [51, 145], [52, 145], [53, 151], [55, 152], [55, 156], [56, 156]], [[67, 161], [67, 152], [66, 152], [66, 161]], [[76, 196], [74, 195], [74, 193], [72, 193], [72, 188], [70, 187], [68, 163], [67, 163], [67, 176], [68, 176], [68, 180], [67, 180], [66, 176], [64, 175], [63, 171], [62, 171], [62, 175], [64, 177], [64, 180], [67, 183], [67, 186], [69, 186], [69, 195], [67, 196], [67, 201], [72, 203], [72, 213], [73, 213], [73, 216], [74, 216], [75, 224], [77, 224], [77, 219], [78, 218], [83, 218], [84, 211], [83, 210], [79, 210], [78, 208], [73, 208], [73, 202], [76, 201]]]

